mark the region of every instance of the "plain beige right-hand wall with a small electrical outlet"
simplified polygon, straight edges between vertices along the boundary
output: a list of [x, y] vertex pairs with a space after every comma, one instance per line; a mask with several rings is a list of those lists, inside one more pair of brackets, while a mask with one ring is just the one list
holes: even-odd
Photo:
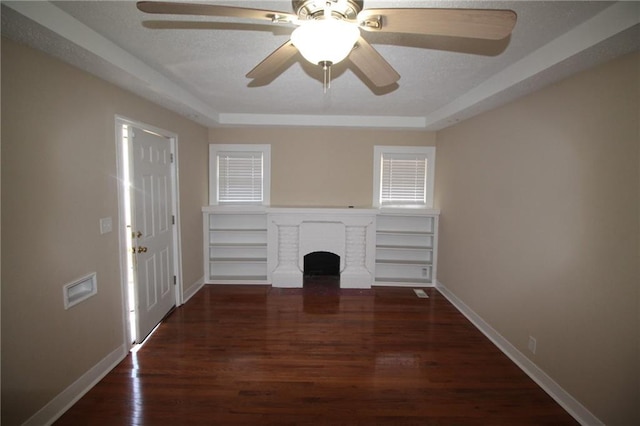
[[639, 64], [437, 134], [439, 281], [608, 425], [640, 424]]

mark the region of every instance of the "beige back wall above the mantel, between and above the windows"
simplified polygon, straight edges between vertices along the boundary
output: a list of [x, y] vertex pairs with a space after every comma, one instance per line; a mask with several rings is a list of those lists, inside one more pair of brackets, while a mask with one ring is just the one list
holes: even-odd
[[435, 145], [426, 131], [216, 128], [211, 143], [271, 144], [271, 205], [371, 207], [375, 145]]

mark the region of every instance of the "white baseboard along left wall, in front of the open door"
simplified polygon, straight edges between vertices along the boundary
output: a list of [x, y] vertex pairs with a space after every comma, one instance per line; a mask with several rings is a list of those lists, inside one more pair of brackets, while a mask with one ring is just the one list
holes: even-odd
[[121, 345], [42, 407], [22, 426], [51, 425], [127, 356]]

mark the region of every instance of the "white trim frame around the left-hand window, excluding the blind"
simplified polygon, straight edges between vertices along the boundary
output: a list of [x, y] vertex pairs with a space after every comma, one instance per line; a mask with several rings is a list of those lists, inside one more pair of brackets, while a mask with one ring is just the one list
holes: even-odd
[[[219, 203], [218, 202], [218, 153], [261, 152], [262, 153], [262, 202]], [[271, 203], [271, 145], [269, 144], [210, 144], [209, 145], [209, 205], [210, 206], [268, 206]]]

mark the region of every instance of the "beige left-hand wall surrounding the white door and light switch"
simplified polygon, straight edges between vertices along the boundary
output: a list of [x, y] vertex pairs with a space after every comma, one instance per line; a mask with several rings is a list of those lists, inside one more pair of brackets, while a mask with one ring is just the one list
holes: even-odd
[[[183, 278], [202, 276], [207, 129], [2, 39], [2, 423], [20, 424], [124, 342], [115, 114], [178, 134]], [[188, 167], [187, 167], [188, 166]], [[65, 311], [62, 286], [97, 272]]]

